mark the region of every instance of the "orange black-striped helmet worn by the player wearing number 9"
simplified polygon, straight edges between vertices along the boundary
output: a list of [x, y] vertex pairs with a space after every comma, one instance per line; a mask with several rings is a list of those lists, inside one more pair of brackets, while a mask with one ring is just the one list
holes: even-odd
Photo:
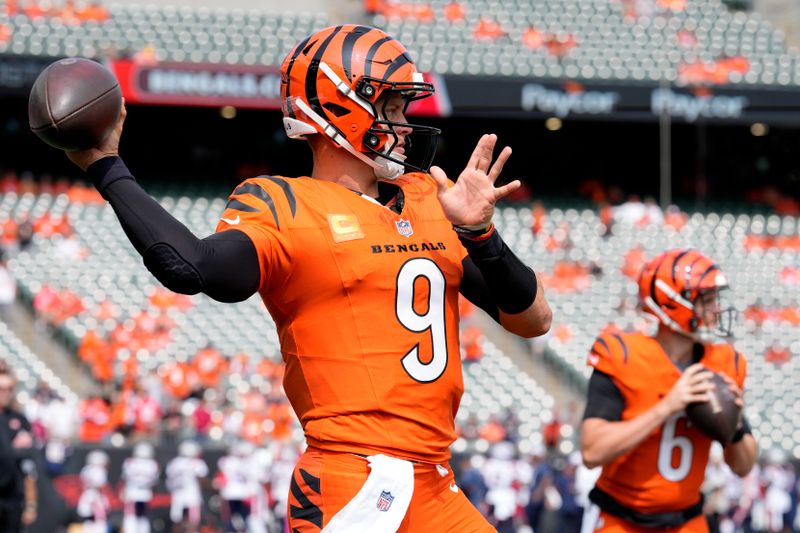
[[[292, 139], [324, 135], [374, 168], [381, 179], [394, 179], [406, 167], [422, 172], [430, 168], [441, 131], [393, 122], [387, 118], [386, 105], [392, 93], [399, 94], [407, 107], [433, 92], [405, 47], [368, 26], [344, 24], [320, 30], [295, 46], [281, 65], [286, 134]], [[427, 139], [419, 161], [409, 160], [410, 137], [398, 146], [397, 128], [411, 131], [415, 147], [419, 137]]]

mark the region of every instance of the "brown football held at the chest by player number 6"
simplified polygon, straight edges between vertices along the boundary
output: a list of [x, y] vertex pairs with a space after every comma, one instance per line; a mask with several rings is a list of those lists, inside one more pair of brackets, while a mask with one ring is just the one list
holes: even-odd
[[739, 424], [740, 409], [720, 374], [714, 372], [711, 382], [714, 388], [709, 392], [709, 401], [690, 403], [686, 406], [686, 416], [708, 437], [727, 444]]

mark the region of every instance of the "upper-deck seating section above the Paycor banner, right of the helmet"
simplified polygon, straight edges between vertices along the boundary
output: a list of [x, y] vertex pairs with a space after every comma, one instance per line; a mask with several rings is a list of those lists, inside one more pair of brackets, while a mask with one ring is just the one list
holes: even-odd
[[[653, 1], [639, 12], [634, 2], [612, 0], [404, 4], [430, 6], [434, 17], [420, 19], [394, 9], [376, 14], [372, 23], [407, 43], [426, 71], [677, 82], [690, 66], [716, 70], [720, 60], [744, 58], [745, 68], [720, 74], [717, 82], [794, 85], [800, 80], [797, 56], [787, 50], [780, 31], [757, 13], [732, 13], [718, 0], [690, 0], [682, 10]], [[463, 18], [448, 20], [445, 10], [453, 4], [462, 6]]]

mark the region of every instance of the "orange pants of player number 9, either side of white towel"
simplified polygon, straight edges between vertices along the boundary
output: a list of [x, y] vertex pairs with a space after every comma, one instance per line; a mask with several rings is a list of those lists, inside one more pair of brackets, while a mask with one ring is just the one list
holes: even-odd
[[[414, 463], [414, 495], [398, 533], [496, 531], [455, 485], [450, 465], [441, 467], [444, 475], [436, 465]], [[353, 499], [368, 475], [364, 457], [306, 450], [292, 473], [289, 531], [318, 533]]]

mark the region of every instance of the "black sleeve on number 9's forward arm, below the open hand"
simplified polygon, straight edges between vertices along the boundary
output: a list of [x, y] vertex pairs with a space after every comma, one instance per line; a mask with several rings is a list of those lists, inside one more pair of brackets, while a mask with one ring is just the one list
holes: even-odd
[[459, 234], [472, 262], [480, 270], [497, 308], [515, 315], [528, 309], [536, 299], [536, 274], [506, 246], [496, 230], [482, 240]]

